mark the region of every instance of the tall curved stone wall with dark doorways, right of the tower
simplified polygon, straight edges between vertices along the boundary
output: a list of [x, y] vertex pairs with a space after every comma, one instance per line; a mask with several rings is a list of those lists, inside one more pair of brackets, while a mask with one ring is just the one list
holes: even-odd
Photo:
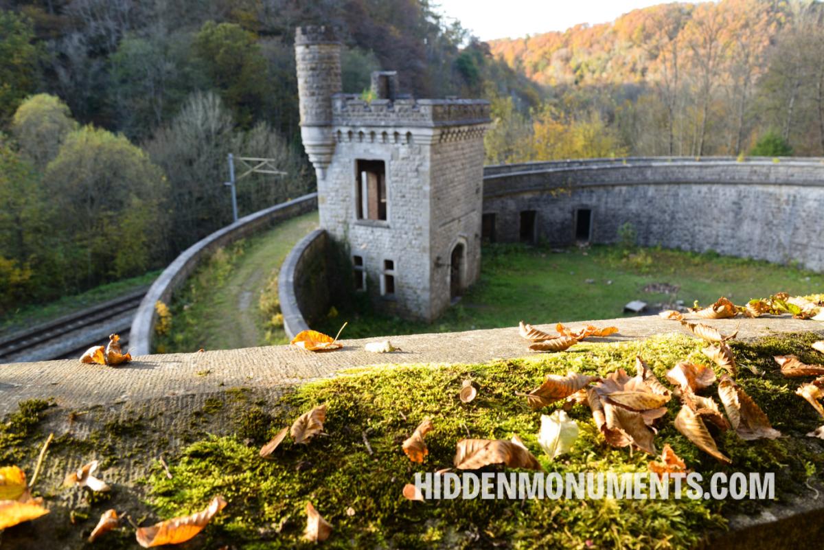
[[[536, 212], [534, 229], [522, 232], [528, 211]], [[576, 235], [586, 230], [577, 227], [582, 211], [590, 212], [588, 239]], [[714, 249], [821, 270], [822, 212], [824, 160], [817, 158], [536, 162], [489, 166], [484, 176], [487, 236], [502, 242], [611, 243], [629, 221], [639, 245]]]

